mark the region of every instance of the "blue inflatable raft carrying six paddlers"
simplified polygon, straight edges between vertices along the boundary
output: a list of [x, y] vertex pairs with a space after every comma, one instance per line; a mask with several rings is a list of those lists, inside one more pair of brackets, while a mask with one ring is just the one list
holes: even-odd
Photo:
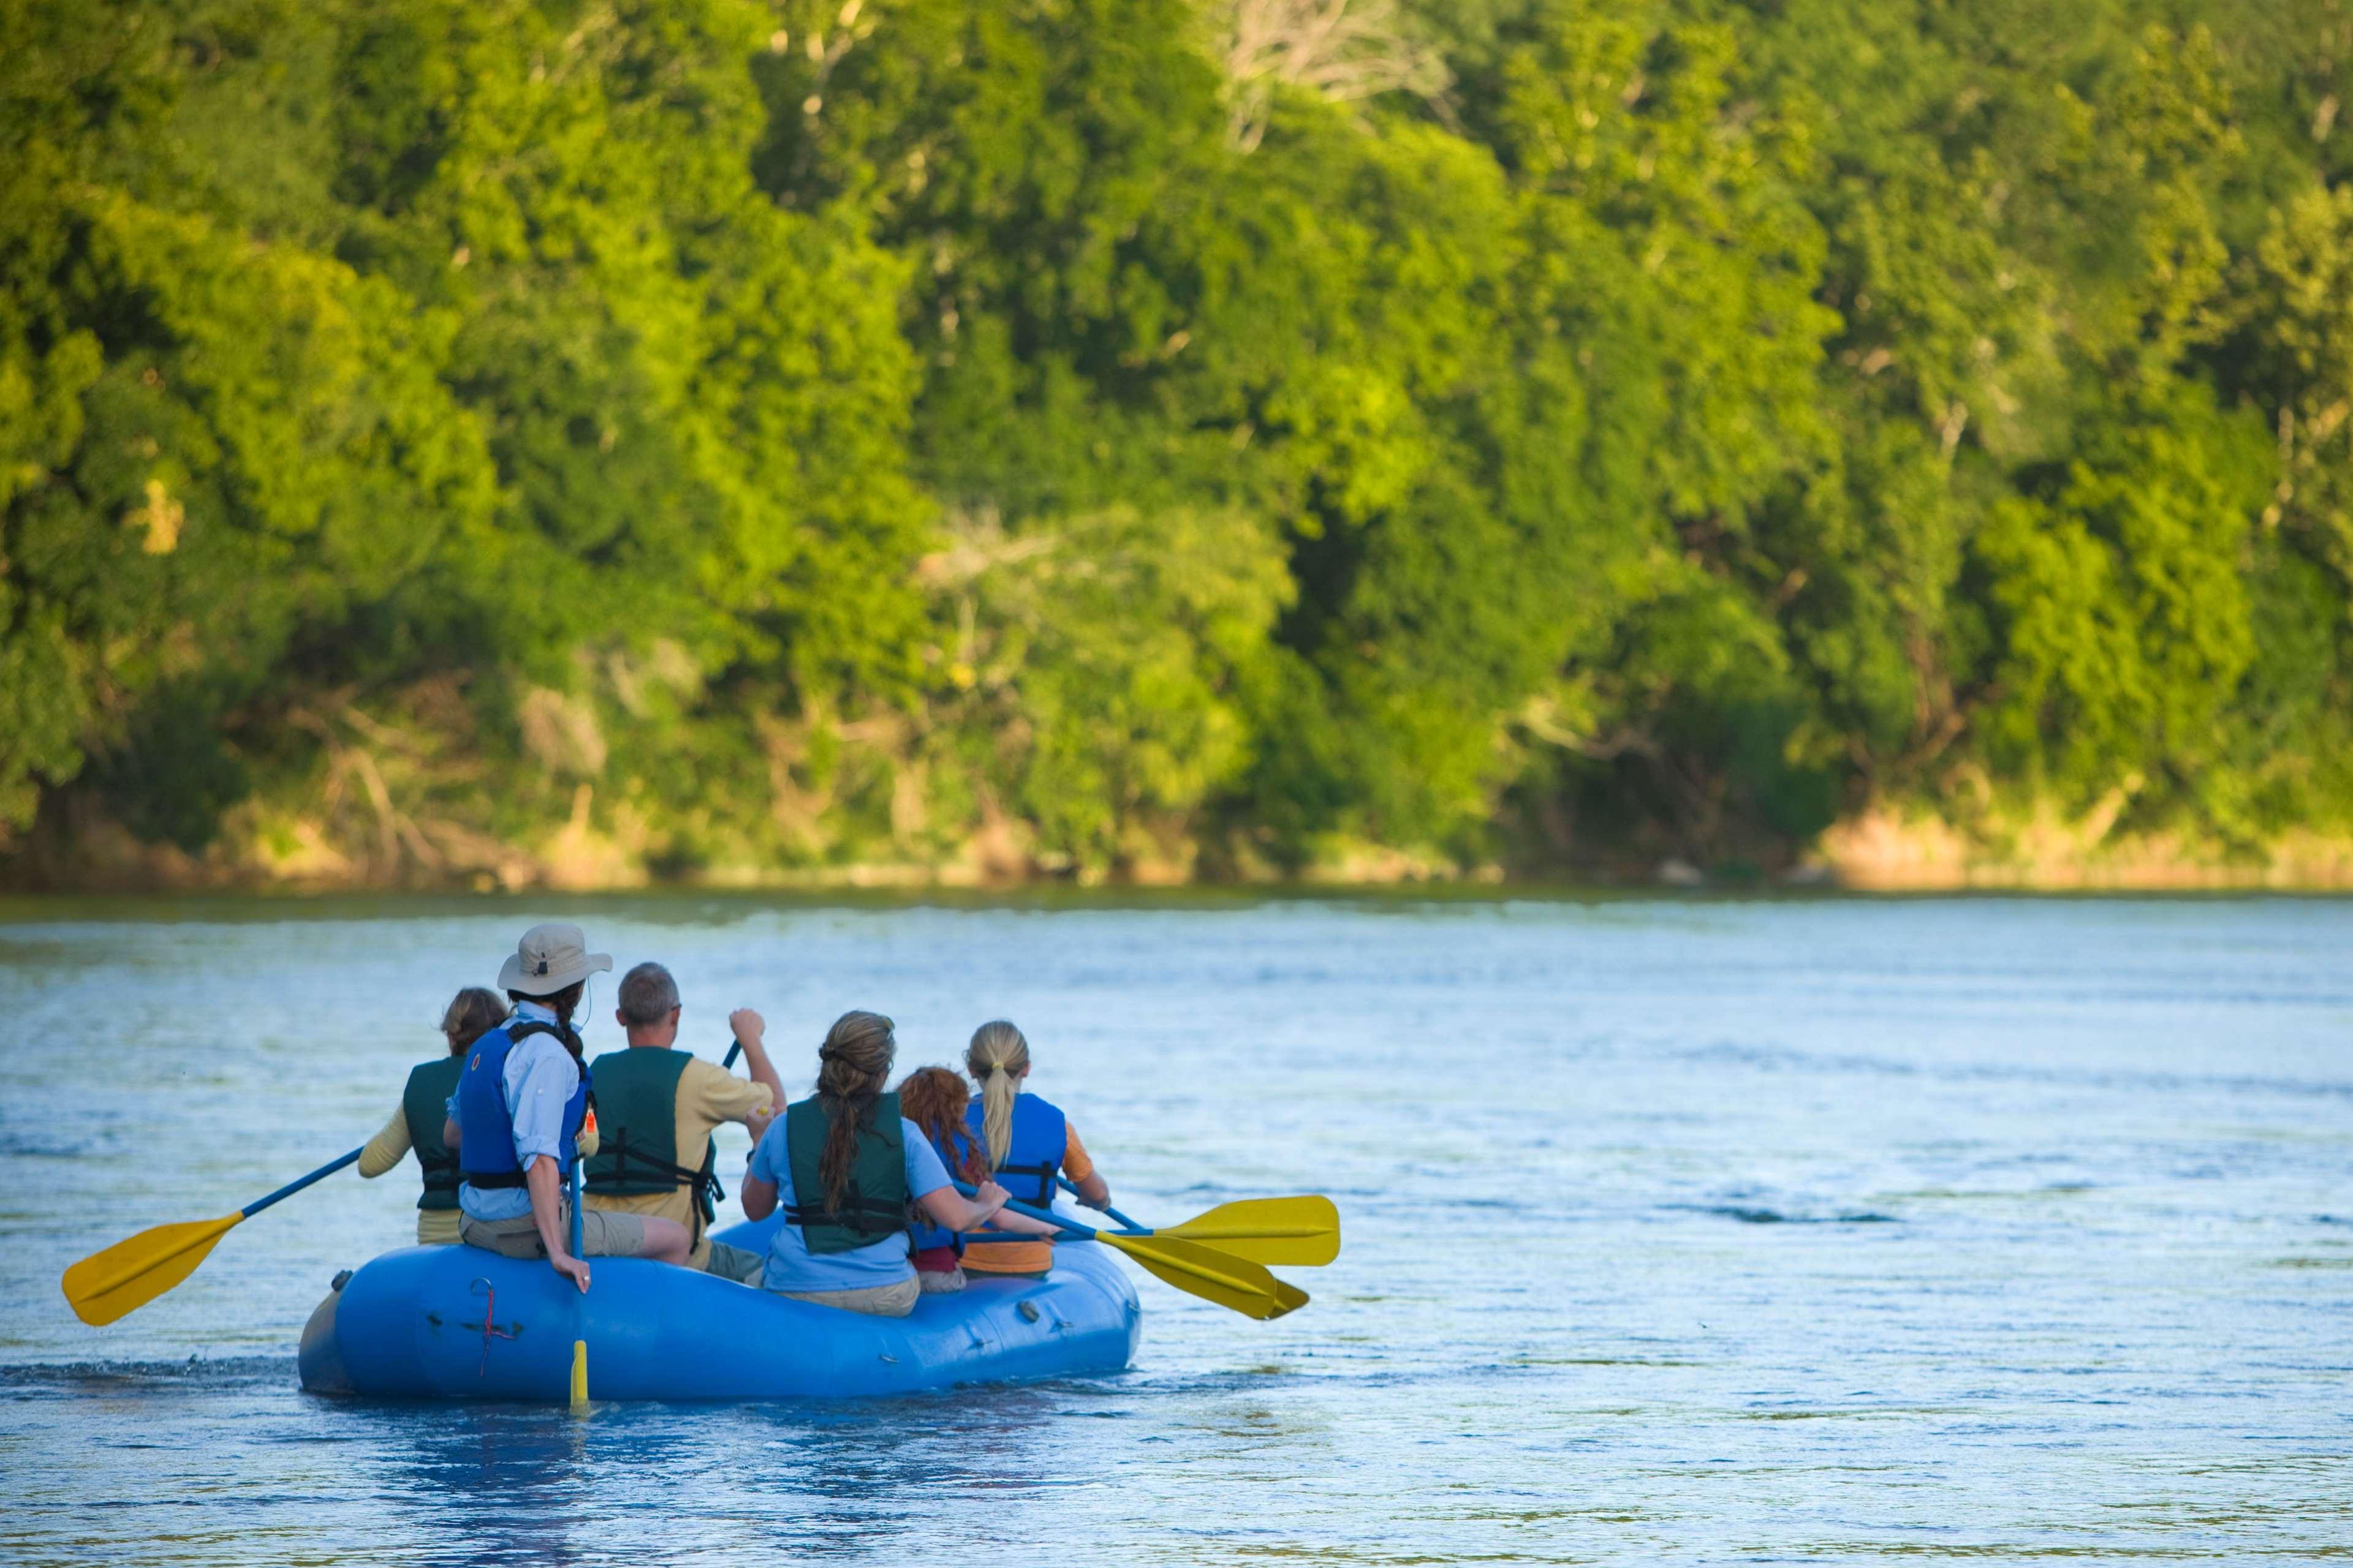
[[[767, 1251], [779, 1218], [715, 1232]], [[355, 1269], [311, 1314], [301, 1385], [372, 1399], [562, 1403], [572, 1342], [591, 1399], [838, 1399], [1115, 1373], [1141, 1307], [1108, 1248], [1054, 1248], [1045, 1279], [925, 1295], [904, 1319], [795, 1302], [638, 1258], [595, 1258], [586, 1295], [546, 1262], [412, 1246]]]

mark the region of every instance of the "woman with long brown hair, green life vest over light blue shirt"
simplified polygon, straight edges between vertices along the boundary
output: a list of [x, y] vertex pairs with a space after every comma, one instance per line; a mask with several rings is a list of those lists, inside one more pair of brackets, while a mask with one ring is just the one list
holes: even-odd
[[899, 1095], [882, 1093], [899, 1046], [892, 1027], [880, 1013], [835, 1018], [816, 1051], [816, 1093], [769, 1121], [751, 1152], [744, 1213], [765, 1220], [781, 1204], [786, 1220], [767, 1248], [765, 1291], [906, 1316], [922, 1295], [906, 1206], [946, 1229], [972, 1229], [1005, 1201], [995, 1182], [981, 1182], [976, 1199], [955, 1192], [922, 1131], [899, 1114]]

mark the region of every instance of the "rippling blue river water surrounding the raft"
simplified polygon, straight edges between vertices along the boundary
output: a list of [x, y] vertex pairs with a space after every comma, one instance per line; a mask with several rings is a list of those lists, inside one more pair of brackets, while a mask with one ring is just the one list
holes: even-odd
[[[2353, 1542], [2353, 905], [558, 905], [685, 1041], [1019, 1020], [1122, 1208], [1329, 1192], [1252, 1324], [889, 1403], [294, 1387], [414, 1166], [111, 1328], [56, 1276], [372, 1133], [506, 903], [0, 917], [0, 1561], [2322, 1561]], [[612, 990], [593, 1048], [616, 1044]], [[720, 1168], [741, 1173], [741, 1131]]]

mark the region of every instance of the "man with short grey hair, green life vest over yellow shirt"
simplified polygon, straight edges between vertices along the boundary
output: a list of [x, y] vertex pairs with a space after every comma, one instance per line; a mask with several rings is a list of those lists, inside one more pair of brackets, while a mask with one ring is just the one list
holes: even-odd
[[[621, 976], [614, 1018], [628, 1032], [628, 1046], [588, 1063], [600, 1145], [581, 1168], [584, 1201], [602, 1213], [675, 1220], [692, 1239], [687, 1267], [755, 1286], [767, 1255], [713, 1241], [706, 1227], [718, 1218], [722, 1197], [720, 1150], [711, 1131], [741, 1121], [758, 1143], [784, 1105], [784, 1084], [760, 1044], [767, 1023], [748, 1006], [727, 1016], [751, 1070], [751, 1081], [744, 1081], [675, 1048], [678, 1013], [678, 980], [668, 969], [638, 964]], [[680, 1161], [680, 1154], [694, 1164]]]

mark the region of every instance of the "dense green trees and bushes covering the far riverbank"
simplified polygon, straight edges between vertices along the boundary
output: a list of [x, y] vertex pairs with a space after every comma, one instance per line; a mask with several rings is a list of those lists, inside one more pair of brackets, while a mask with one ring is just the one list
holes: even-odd
[[2353, 0], [0, 0], [0, 849], [2334, 832], [2348, 99]]

